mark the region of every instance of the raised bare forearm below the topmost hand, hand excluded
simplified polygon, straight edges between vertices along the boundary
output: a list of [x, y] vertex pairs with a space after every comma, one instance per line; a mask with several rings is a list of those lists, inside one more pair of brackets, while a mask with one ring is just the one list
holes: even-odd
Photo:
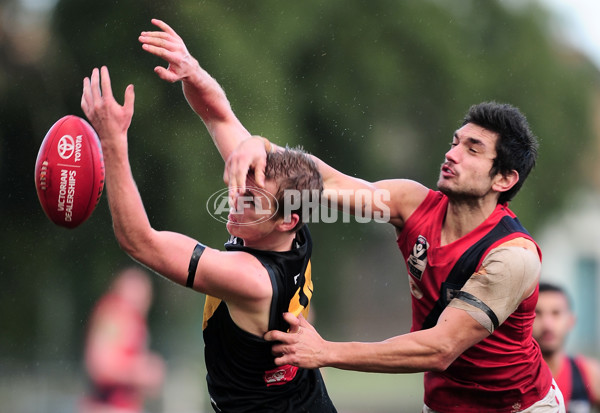
[[206, 129], [227, 160], [238, 144], [250, 133], [233, 113], [221, 86], [199, 65], [194, 73], [183, 80], [183, 93], [190, 107], [200, 116]]

